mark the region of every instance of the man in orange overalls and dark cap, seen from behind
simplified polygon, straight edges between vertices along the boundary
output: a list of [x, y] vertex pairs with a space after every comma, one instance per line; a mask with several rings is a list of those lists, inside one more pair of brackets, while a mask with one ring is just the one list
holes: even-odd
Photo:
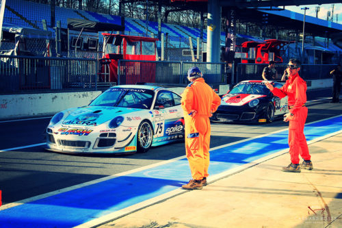
[[189, 69], [187, 79], [191, 83], [182, 94], [181, 105], [185, 121], [185, 150], [193, 179], [182, 188], [193, 190], [207, 185], [211, 133], [209, 117], [218, 109], [221, 99], [205, 83], [197, 67]]

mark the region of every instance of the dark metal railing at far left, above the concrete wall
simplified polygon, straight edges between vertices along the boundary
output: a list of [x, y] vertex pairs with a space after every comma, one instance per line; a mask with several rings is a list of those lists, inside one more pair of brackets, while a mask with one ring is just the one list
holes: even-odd
[[96, 89], [96, 60], [0, 55], [0, 93]]

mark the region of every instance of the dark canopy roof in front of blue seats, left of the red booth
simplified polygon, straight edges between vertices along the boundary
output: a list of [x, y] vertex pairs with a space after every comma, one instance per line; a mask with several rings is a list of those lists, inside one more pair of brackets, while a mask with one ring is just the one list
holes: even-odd
[[88, 21], [78, 18], [68, 18], [68, 29], [81, 31], [90, 31], [90, 32], [98, 32], [98, 31], [124, 31], [124, 26], [111, 24], [111, 23], [102, 23], [96, 21]]

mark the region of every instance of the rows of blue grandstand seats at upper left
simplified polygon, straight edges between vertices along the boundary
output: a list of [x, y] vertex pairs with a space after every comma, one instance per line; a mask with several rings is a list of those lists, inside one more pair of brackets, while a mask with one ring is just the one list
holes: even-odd
[[[6, 1], [6, 6], [8, 7], [5, 8], [4, 22], [42, 29], [42, 19], [45, 19], [47, 24], [51, 25], [50, 5], [25, 0], [10, 0]], [[61, 21], [61, 26], [63, 28], [67, 27], [67, 18], [88, 19], [90, 21], [99, 21], [103, 23], [121, 23], [120, 16], [55, 7], [55, 21]], [[125, 18], [124, 23], [126, 34], [146, 36], [146, 21], [136, 18]], [[53, 31], [53, 28], [49, 27], [49, 30]], [[189, 36], [192, 37], [194, 46], [196, 46], [195, 40], [200, 36], [200, 30], [197, 28], [167, 23], [161, 24], [161, 32], [163, 34], [167, 33], [170, 39], [170, 45], [177, 47], [180, 45], [179, 38], [188, 40]], [[151, 36], [151, 34], [154, 34], [154, 36], [157, 37], [157, 22], [148, 21], [147, 36]], [[203, 33], [203, 40], [207, 40], [207, 31], [205, 30]], [[221, 36], [221, 40], [224, 42], [224, 34]], [[183, 45], [185, 45], [185, 43], [181, 43], [180, 46]]]

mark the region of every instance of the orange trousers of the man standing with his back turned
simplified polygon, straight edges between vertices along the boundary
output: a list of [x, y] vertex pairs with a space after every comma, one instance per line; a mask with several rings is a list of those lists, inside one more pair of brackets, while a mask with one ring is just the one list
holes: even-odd
[[185, 116], [185, 150], [192, 178], [200, 180], [208, 177], [210, 162], [210, 121], [208, 116], [196, 114]]

